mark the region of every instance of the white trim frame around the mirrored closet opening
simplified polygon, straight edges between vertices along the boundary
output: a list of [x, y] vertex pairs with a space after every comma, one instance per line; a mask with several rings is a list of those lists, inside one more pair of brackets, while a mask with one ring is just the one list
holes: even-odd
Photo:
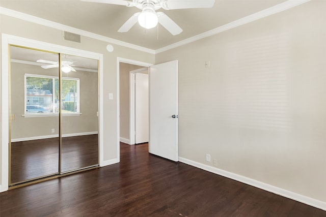
[[98, 160], [99, 166], [104, 166], [103, 162], [103, 54], [86, 50], [70, 48], [66, 46], [40, 42], [22, 37], [2, 34], [2, 144], [1, 152], [1, 183], [0, 192], [7, 191], [9, 188], [9, 70], [11, 45], [28, 47], [37, 50], [45, 50], [55, 53], [65, 53], [98, 60]]

